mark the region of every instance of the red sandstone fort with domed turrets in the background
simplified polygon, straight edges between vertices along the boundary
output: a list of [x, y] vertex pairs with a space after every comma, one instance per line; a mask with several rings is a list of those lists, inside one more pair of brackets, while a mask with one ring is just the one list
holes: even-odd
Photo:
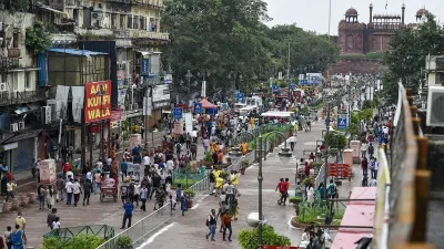
[[[405, 6], [401, 14], [374, 14], [373, 4], [369, 7], [367, 23], [359, 21], [354, 8], [345, 11], [344, 19], [339, 22], [337, 37], [333, 40], [340, 46], [340, 56], [330, 74], [374, 74], [377, 73], [383, 53], [389, 50], [390, 38], [396, 30], [413, 28], [417, 23], [405, 23]], [[425, 9], [416, 11], [416, 21], [421, 21]]]

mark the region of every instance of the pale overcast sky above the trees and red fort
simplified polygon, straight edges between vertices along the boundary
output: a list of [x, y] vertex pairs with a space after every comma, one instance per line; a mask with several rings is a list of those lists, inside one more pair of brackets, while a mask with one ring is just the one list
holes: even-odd
[[[317, 33], [329, 32], [329, 0], [264, 0], [269, 3], [269, 15], [273, 18], [266, 24], [292, 24]], [[357, 10], [359, 21], [369, 22], [369, 6], [373, 3], [373, 14], [401, 14], [402, 3], [405, 3], [405, 22], [415, 22], [416, 11], [423, 7], [444, 22], [444, 0], [332, 0], [332, 19], [330, 33], [337, 34], [337, 23], [344, 18], [345, 11], [353, 7]], [[387, 9], [385, 10], [385, 4]], [[441, 3], [441, 4], [440, 4]]]

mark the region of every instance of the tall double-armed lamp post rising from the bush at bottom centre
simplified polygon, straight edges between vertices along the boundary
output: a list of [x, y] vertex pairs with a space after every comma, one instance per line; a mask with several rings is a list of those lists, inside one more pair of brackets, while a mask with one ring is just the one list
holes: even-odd
[[[281, 163], [282, 164], [284, 164], [284, 166], [290, 162], [290, 159], [291, 159], [291, 157], [292, 157], [292, 153], [290, 152], [290, 148], [287, 148], [286, 147], [286, 137], [282, 134], [282, 133], [280, 133], [280, 132], [270, 132], [265, 137], [262, 137], [262, 134], [259, 134], [259, 136], [258, 136], [258, 142], [259, 142], [259, 146], [258, 146], [258, 143], [254, 143], [254, 152], [258, 152], [259, 153], [259, 172], [258, 172], [258, 186], [259, 186], [259, 212], [258, 212], [258, 217], [259, 217], [259, 222], [256, 224], [258, 225], [258, 246], [259, 246], [259, 248], [262, 248], [262, 224], [264, 222], [264, 218], [263, 218], [263, 214], [262, 214], [262, 181], [263, 181], [263, 176], [262, 176], [262, 143], [266, 143], [266, 139], [268, 139], [268, 137], [271, 135], [271, 134], [276, 134], [276, 135], [279, 135], [279, 136], [281, 136], [281, 137], [283, 137], [284, 138], [284, 144], [285, 144], [285, 146], [284, 146], [284, 148], [281, 148], [281, 152], [278, 154], [279, 155], [279, 158], [281, 159]], [[241, 133], [239, 133], [235, 137], [234, 137], [234, 141], [236, 142], [238, 141], [238, 138], [239, 137], [243, 137], [243, 135], [249, 135], [249, 136], [251, 136], [253, 139], [255, 139], [256, 137], [254, 136], [254, 134], [253, 133], [251, 133], [251, 132], [241, 132]], [[258, 148], [259, 148], [259, 151], [258, 151]], [[239, 159], [241, 158], [241, 153], [239, 153], [239, 148], [238, 147], [235, 147], [235, 148], [233, 148], [232, 149], [232, 152], [229, 154], [230, 155], [230, 158], [233, 160], [233, 162], [239, 162]], [[251, 214], [251, 215], [255, 215], [255, 214]], [[251, 225], [250, 222], [249, 222], [249, 225], [250, 226], [255, 226], [255, 224], [254, 225]]]

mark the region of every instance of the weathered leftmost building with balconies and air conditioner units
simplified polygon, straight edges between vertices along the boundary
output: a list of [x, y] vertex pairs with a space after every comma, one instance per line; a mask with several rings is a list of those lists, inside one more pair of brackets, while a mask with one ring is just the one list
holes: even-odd
[[41, 133], [40, 106], [46, 89], [38, 86], [39, 69], [24, 45], [31, 13], [0, 11], [0, 164], [24, 170], [37, 156]]

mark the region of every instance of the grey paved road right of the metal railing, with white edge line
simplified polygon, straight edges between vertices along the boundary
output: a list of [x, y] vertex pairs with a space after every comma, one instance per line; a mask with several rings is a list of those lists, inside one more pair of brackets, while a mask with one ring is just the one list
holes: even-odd
[[[296, 149], [289, 165], [282, 165], [275, 154], [270, 154], [266, 162], [263, 162], [263, 212], [265, 219], [270, 225], [274, 226], [279, 234], [290, 237], [292, 245], [299, 245], [302, 232], [287, 225], [289, 220], [295, 216], [294, 209], [291, 205], [279, 206], [276, 204], [278, 194], [274, 189], [279, 179], [282, 177], [289, 177], [291, 180], [291, 189], [294, 189], [296, 159], [303, 156], [304, 148], [315, 148], [315, 141], [321, 138], [321, 131], [324, 128], [325, 125], [323, 121], [319, 121], [313, 124], [312, 132], [299, 133]], [[205, 240], [204, 235], [208, 232], [208, 228], [204, 225], [205, 218], [210, 209], [218, 209], [219, 207], [216, 198], [209, 196], [194, 207], [194, 209], [189, 210], [185, 217], [180, 217], [171, 226], [149, 239], [139, 249], [170, 249], [171, 245], [181, 245], [182, 248], [193, 249], [240, 248], [236, 241], [236, 235], [240, 229], [249, 228], [245, 222], [246, 216], [252, 211], [258, 211], [258, 165], [253, 165], [240, 179], [239, 190], [242, 194], [239, 198], [240, 217], [238, 221], [232, 224], [234, 230], [232, 242], [222, 241], [222, 234], [220, 232], [216, 235], [215, 242]], [[357, 168], [355, 170], [357, 170]], [[353, 181], [339, 187], [340, 196], [349, 196], [351, 190], [350, 186], [354, 186], [355, 184], [356, 183]], [[291, 190], [290, 195], [293, 196], [294, 190]], [[334, 234], [332, 234], [332, 236], [334, 236]]]

